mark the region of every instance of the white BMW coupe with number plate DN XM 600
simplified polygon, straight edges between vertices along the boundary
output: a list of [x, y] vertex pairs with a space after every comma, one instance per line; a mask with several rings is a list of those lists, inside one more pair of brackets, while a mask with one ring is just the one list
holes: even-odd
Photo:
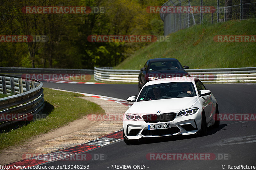
[[210, 90], [195, 77], [149, 81], [123, 118], [126, 144], [141, 138], [172, 135], [206, 135], [210, 126], [220, 124], [218, 104]]

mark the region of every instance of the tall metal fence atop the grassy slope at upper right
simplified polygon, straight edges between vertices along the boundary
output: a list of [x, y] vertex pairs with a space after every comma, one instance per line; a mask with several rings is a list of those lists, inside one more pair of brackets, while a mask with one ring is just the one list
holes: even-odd
[[230, 19], [247, 19], [256, 17], [255, 0], [168, 0], [162, 8], [179, 6], [209, 6], [209, 13], [160, 12], [164, 21], [164, 35], [188, 28], [196, 24], [225, 22]]

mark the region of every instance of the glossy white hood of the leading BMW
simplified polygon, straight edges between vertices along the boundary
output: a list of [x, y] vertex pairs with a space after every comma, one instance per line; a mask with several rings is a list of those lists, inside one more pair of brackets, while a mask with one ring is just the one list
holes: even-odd
[[185, 98], [139, 101], [133, 103], [133, 105], [130, 107], [130, 113], [157, 114], [158, 111], [160, 111], [161, 113], [178, 112], [180, 110], [191, 108], [197, 100], [197, 96], [194, 96]]

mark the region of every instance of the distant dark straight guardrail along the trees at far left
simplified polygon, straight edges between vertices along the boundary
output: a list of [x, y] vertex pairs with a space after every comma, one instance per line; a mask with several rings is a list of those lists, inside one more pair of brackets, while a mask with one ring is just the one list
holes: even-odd
[[23, 67], [0, 67], [0, 73], [51, 73], [51, 74], [93, 74], [90, 69], [46, 69], [46, 68], [23, 68]]

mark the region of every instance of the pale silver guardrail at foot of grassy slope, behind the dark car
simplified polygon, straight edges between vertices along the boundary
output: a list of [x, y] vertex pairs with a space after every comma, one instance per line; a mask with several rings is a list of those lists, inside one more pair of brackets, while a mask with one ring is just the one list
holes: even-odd
[[[187, 69], [191, 76], [206, 83], [256, 82], [256, 67]], [[112, 70], [94, 67], [94, 79], [97, 81], [138, 82], [140, 70]]]

